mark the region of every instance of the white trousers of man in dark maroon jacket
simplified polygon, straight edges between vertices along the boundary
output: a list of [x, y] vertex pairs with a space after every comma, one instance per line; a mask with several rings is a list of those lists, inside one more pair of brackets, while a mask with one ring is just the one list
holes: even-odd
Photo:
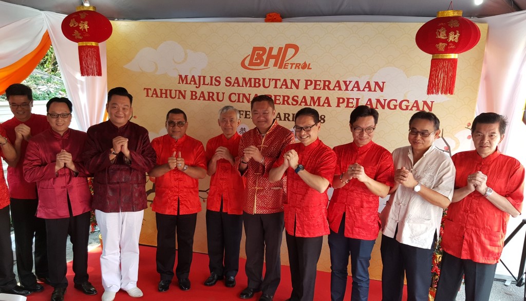
[[143, 216], [144, 210], [118, 213], [95, 210], [103, 240], [100, 271], [104, 290], [118, 292], [137, 286]]

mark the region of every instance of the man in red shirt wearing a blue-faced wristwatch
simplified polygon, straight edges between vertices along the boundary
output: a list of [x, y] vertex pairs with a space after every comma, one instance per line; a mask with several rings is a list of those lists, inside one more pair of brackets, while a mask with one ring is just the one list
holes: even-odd
[[312, 301], [316, 265], [327, 223], [327, 188], [332, 184], [336, 154], [318, 138], [320, 116], [313, 108], [296, 113], [294, 131], [299, 143], [289, 144], [270, 170], [270, 182], [287, 175], [283, 203], [292, 292], [290, 301]]

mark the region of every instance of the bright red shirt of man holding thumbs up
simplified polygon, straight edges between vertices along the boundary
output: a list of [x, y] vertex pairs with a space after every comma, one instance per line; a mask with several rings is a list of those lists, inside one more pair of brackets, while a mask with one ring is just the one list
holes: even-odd
[[[168, 157], [181, 152], [188, 166], [206, 170], [205, 148], [200, 141], [184, 135], [177, 141], [169, 135], [151, 141], [157, 154], [156, 165], [168, 163]], [[179, 205], [179, 212], [177, 211]], [[199, 181], [174, 168], [155, 178], [155, 197], [151, 210], [161, 214], [192, 214], [201, 211]]]

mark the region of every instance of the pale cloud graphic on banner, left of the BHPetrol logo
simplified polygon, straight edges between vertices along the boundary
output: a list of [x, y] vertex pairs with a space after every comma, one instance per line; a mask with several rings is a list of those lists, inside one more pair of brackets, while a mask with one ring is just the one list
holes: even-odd
[[182, 75], [200, 75], [208, 64], [208, 57], [203, 52], [186, 50], [179, 43], [166, 41], [157, 49], [146, 47], [140, 49], [134, 59], [124, 65], [135, 72], [166, 74], [171, 77]]

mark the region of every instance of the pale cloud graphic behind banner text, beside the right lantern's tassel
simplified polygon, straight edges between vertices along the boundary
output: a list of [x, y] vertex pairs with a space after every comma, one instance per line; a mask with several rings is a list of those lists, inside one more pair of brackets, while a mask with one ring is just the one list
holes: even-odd
[[[395, 98], [395, 99], [418, 99], [419, 101], [434, 101], [441, 103], [450, 98], [446, 95], [427, 95], [428, 78], [420, 75], [408, 77], [402, 69], [396, 67], [385, 67], [377, 73], [364, 75], [361, 77], [349, 77], [348, 81], [365, 82], [385, 82], [383, 92], [362, 92], [362, 98]], [[356, 92], [349, 92], [356, 95]], [[358, 93], [359, 94], [359, 93]]]

